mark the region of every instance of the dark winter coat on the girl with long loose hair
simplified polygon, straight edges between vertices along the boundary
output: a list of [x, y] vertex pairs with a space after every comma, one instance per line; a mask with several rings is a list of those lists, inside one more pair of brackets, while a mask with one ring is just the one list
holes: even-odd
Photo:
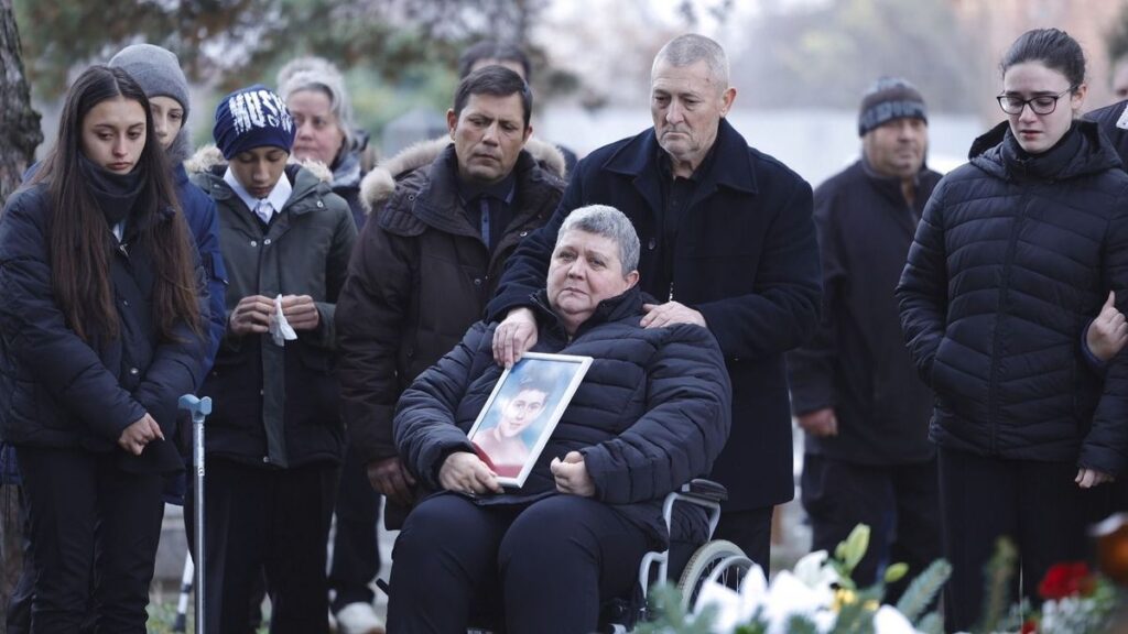
[[[152, 254], [134, 244], [113, 248], [109, 258], [121, 335], [92, 343], [79, 338], [54, 301], [47, 205], [46, 186], [35, 185], [12, 194], [0, 217], [0, 439], [116, 451], [122, 468], [138, 473], [183, 469], [173, 444], [177, 399], [199, 385], [204, 337], [183, 324], [177, 341], [159, 341], [151, 316]], [[179, 220], [169, 208], [149, 221]], [[125, 244], [132, 235], [135, 226], [127, 223]], [[113, 239], [108, 236], [107, 249]], [[197, 275], [202, 281], [203, 272]], [[206, 310], [201, 306], [202, 315]], [[117, 448], [117, 439], [146, 413], [167, 440], [134, 457]]]

